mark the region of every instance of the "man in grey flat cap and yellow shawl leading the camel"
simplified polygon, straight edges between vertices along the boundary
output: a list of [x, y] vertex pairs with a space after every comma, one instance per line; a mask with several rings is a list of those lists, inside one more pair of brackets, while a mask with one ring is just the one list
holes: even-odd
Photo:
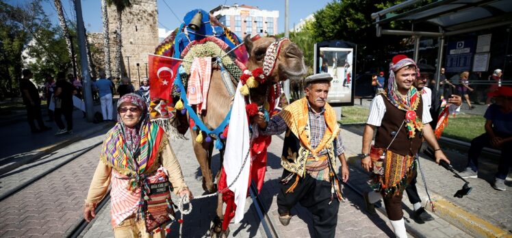
[[266, 121], [255, 117], [266, 135], [286, 131], [281, 166], [281, 191], [277, 195], [279, 221], [290, 223], [297, 202], [313, 213], [313, 237], [334, 237], [337, 211], [343, 200], [336, 157], [342, 164], [342, 181], [348, 180], [344, 145], [334, 109], [326, 102], [333, 78], [329, 73], [305, 79], [305, 98], [288, 105]]

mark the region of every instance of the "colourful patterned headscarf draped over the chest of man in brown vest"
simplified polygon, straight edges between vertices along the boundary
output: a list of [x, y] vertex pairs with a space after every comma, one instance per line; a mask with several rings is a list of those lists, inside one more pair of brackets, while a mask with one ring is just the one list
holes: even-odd
[[398, 85], [396, 85], [395, 80], [395, 72], [398, 72], [401, 68], [407, 66], [415, 66], [416, 68], [416, 77], [420, 76], [420, 69], [416, 65], [413, 59], [407, 57], [407, 55], [396, 55], [392, 59], [392, 65], [389, 66], [389, 79], [387, 81], [387, 91], [386, 97], [390, 103], [392, 103], [396, 108], [406, 111], [405, 114], [405, 127], [409, 133], [409, 137], [414, 137], [415, 129], [421, 131], [423, 128], [423, 124], [416, 116], [415, 110], [420, 103], [420, 92], [416, 90], [414, 86], [409, 88], [407, 91], [406, 98], [402, 98], [400, 96], [400, 92], [398, 92]]

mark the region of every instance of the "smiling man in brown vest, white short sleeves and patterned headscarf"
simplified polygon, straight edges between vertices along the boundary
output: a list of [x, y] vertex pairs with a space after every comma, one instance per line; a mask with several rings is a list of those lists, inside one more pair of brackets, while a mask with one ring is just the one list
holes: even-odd
[[[396, 237], [407, 237], [402, 211], [402, 192], [416, 173], [416, 157], [422, 137], [434, 148], [435, 161], [450, 161], [435, 140], [428, 124], [432, 118], [428, 103], [413, 86], [418, 76], [418, 66], [406, 55], [396, 55], [389, 69], [387, 88], [376, 96], [370, 105], [370, 115], [363, 132], [361, 166], [372, 172], [371, 187], [365, 194], [370, 205], [384, 200], [387, 217]], [[375, 143], [372, 143], [376, 130]]]

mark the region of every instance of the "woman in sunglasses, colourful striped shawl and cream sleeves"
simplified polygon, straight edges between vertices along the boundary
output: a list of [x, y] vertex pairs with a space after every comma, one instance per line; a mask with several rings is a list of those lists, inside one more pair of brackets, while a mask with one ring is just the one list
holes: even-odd
[[[167, 229], [162, 226], [168, 222], [157, 224], [155, 220], [158, 219], [153, 217], [174, 215], [173, 211], [166, 209], [169, 207], [172, 210], [169, 191], [190, 199], [192, 194], [183, 181], [181, 168], [164, 131], [149, 122], [142, 97], [126, 94], [119, 99], [117, 111], [118, 123], [103, 141], [100, 161], [86, 199], [84, 217], [88, 222], [95, 217], [97, 203], [105, 196], [112, 182], [110, 196], [114, 236], [165, 237]], [[155, 184], [157, 186], [152, 187]], [[162, 190], [165, 192], [162, 193]], [[153, 199], [155, 194], [160, 197]], [[158, 205], [155, 202], [159, 200], [167, 204], [164, 209], [155, 211], [153, 206]], [[162, 213], [162, 210], [165, 212]]]

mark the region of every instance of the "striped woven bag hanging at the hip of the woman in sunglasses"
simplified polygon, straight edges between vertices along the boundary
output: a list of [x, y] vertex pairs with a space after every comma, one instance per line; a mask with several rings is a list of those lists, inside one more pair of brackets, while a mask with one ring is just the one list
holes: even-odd
[[141, 193], [144, 208], [142, 214], [149, 233], [175, 221], [174, 204], [170, 199], [172, 189], [168, 172], [163, 166], [144, 179], [144, 189]]

